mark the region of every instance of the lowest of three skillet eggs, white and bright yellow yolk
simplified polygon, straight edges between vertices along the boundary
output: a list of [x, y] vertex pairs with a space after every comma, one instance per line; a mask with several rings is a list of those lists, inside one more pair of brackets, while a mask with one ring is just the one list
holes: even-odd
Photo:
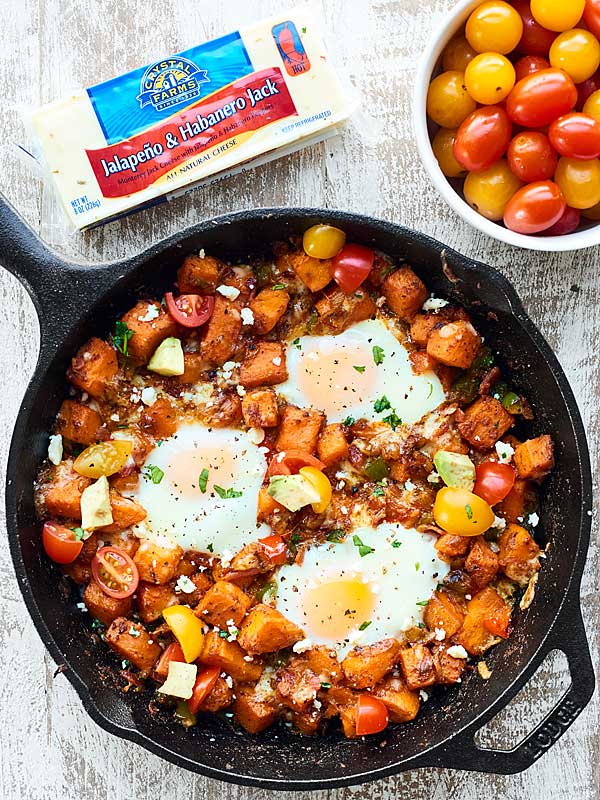
[[276, 607], [308, 640], [339, 657], [356, 645], [397, 637], [422, 621], [449, 566], [436, 536], [397, 523], [356, 528], [343, 542], [312, 547], [275, 576]]

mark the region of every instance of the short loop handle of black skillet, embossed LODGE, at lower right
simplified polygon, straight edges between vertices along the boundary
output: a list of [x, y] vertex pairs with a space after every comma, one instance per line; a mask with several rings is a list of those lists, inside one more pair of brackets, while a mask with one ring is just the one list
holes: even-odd
[[[530, 673], [533, 674], [552, 650], [561, 650], [566, 655], [571, 685], [552, 711], [512, 750], [478, 747], [474, 735], [482, 724], [476, 723], [452, 739], [447, 747], [435, 752], [436, 763], [429, 762], [430, 766], [513, 775], [528, 769], [570, 728], [588, 704], [595, 687], [577, 589], [571, 593], [571, 598], [565, 602], [566, 608], [563, 606], [561, 609], [560, 619], [542, 645]], [[485, 722], [487, 721], [486, 719]]]

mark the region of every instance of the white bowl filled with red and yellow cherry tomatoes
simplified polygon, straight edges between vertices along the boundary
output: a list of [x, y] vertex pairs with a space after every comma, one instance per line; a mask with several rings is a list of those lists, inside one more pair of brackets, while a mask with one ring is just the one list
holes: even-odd
[[414, 110], [424, 165], [471, 225], [533, 250], [600, 244], [600, 0], [462, 0]]

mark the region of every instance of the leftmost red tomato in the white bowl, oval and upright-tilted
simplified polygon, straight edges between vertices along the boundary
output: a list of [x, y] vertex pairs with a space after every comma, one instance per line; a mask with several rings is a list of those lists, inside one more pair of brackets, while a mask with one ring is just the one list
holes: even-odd
[[479, 108], [458, 129], [454, 157], [469, 172], [481, 172], [504, 155], [511, 133], [512, 125], [503, 108]]

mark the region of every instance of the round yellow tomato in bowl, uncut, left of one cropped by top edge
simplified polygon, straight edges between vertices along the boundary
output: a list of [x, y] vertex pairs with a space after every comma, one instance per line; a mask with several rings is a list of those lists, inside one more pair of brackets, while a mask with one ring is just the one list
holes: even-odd
[[473, 11], [465, 27], [465, 36], [478, 53], [493, 50], [510, 53], [523, 35], [521, 15], [508, 3], [497, 0], [482, 3]]

